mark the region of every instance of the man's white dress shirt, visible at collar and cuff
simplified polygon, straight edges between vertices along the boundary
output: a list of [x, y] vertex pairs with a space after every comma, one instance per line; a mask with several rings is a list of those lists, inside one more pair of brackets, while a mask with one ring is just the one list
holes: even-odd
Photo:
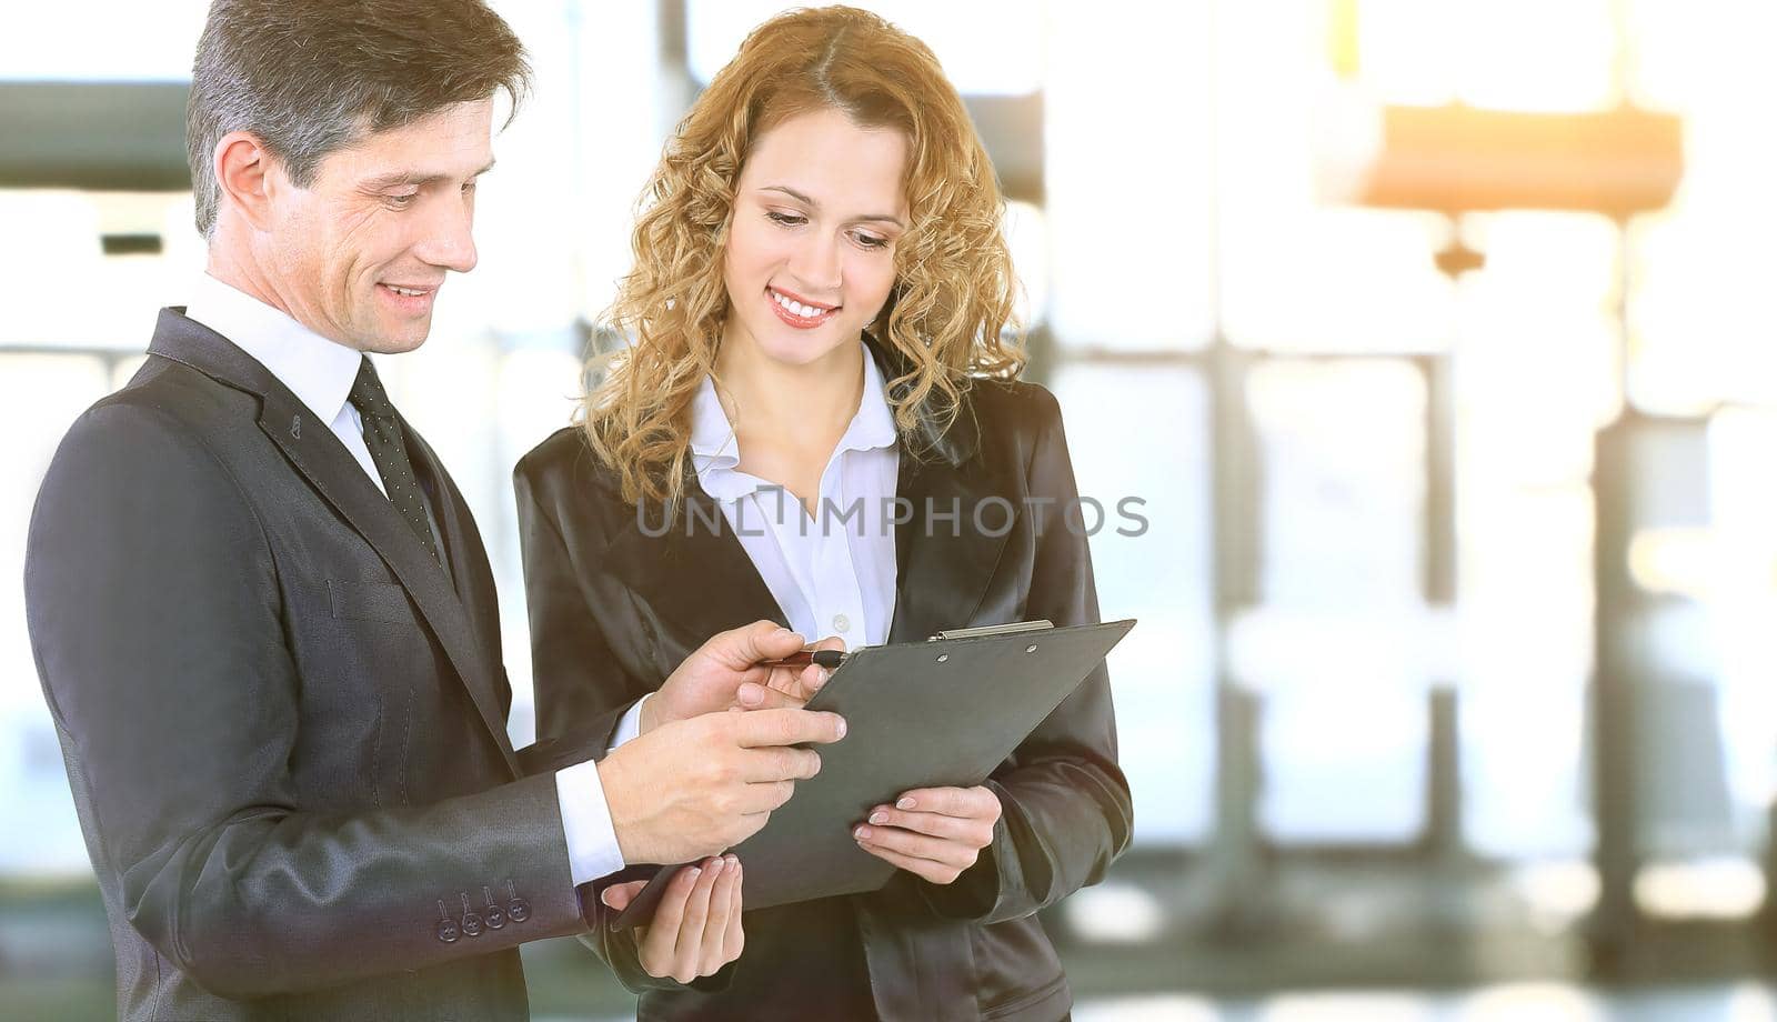
[[[387, 496], [377, 462], [370, 459], [370, 448], [364, 444], [363, 419], [357, 407], [347, 400], [364, 357], [361, 352], [329, 341], [286, 313], [208, 274], [199, 275], [192, 288], [185, 315], [235, 341], [235, 347], [290, 387], [297, 400], [327, 423], [370, 482]], [[426, 515], [437, 531], [430, 507]], [[444, 544], [439, 542], [439, 551], [442, 549]], [[622, 869], [624, 857], [617, 846], [617, 828], [604, 802], [597, 764], [586, 761], [556, 771], [556, 800], [562, 803], [562, 826], [567, 832], [574, 883], [586, 883]]]

